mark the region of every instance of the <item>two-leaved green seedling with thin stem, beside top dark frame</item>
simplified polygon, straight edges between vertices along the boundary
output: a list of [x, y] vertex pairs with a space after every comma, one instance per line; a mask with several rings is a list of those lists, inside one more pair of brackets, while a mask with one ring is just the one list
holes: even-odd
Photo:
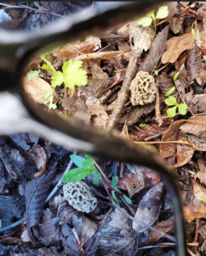
[[146, 17], [141, 18], [138, 20], [138, 25], [141, 26], [150, 26], [152, 24], [152, 20], [154, 20], [154, 26], [155, 26], [155, 34], [157, 34], [157, 27], [156, 27], [156, 19], [164, 19], [169, 15], [169, 10], [167, 6], [161, 6], [157, 10], [157, 15], [154, 15], [154, 10], [146, 15]]

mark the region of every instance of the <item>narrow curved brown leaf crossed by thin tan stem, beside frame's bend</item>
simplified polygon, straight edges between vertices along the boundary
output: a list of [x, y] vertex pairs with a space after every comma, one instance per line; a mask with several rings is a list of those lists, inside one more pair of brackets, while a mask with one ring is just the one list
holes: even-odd
[[[163, 134], [162, 142], [177, 141], [179, 136], [179, 128], [186, 120], [178, 120], [169, 126], [168, 131]], [[177, 143], [160, 144], [160, 155], [163, 158], [173, 156], [177, 148]]]

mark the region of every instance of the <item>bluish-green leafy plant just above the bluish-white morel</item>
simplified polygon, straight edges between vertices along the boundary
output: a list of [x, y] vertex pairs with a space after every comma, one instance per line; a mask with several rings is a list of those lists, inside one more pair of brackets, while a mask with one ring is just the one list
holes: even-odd
[[72, 169], [70, 172], [67, 172], [62, 178], [63, 183], [71, 183], [87, 177], [89, 174], [94, 176], [93, 183], [98, 184], [101, 179], [100, 172], [97, 172], [94, 166], [92, 157], [89, 154], [85, 154], [85, 158], [71, 154], [70, 158], [78, 168]]

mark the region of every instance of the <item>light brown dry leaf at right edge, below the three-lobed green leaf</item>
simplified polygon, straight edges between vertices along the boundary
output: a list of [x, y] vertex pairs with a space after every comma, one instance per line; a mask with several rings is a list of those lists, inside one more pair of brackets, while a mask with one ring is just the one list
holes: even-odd
[[191, 133], [197, 137], [206, 139], [206, 115], [193, 116], [187, 119], [187, 121], [186, 124], [180, 126], [181, 132]]

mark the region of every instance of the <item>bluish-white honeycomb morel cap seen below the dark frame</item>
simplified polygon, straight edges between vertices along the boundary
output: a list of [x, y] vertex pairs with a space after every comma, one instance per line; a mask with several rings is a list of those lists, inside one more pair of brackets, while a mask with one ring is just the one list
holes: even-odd
[[63, 186], [64, 197], [79, 212], [92, 212], [97, 206], [97, 199], [92, 196], [89, 186], [83, 181], [66, 183]]

